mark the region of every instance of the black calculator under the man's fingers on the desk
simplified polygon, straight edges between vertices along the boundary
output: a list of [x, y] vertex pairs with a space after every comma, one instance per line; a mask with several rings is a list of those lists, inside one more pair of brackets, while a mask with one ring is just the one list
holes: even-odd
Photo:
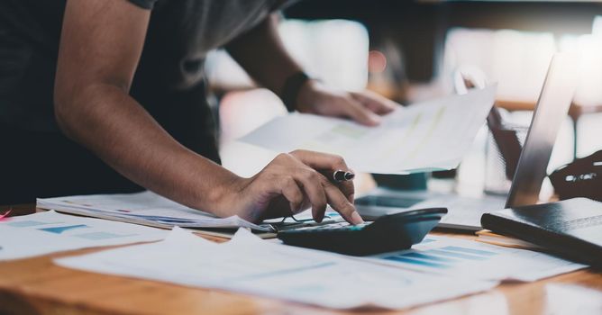
[[358, 225], [338, 222], [282, 230], [278, 238], [287, 245], [367, 256], [420, 243], [446, 213], [446, 208], [404, 211]]

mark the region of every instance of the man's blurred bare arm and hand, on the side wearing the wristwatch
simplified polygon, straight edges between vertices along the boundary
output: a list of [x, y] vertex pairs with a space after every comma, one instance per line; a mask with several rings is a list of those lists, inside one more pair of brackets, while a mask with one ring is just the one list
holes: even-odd
[[[271, 14], [254, 29], [230, 42], [226, 48], [256, 81], [280, 96], [287, 78], [302, 70], [288, 54], [278, 35], [276, 14]], [[309, 80], [301, 87], [293, 106], [299, 112], [343, 116], [373, 126], [379, 123], [379, 115], [393, 111], [397, 104], [377, 94], [348, 93]]]

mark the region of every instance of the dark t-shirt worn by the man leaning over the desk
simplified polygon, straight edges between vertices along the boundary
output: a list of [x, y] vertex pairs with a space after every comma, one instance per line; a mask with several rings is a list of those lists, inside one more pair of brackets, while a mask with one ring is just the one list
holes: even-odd
[[[211, 137], [214, 129], [204, 100], [206, 53], [287, 1], [128, 1], [152, 10], [131, 94], [180, 142], [198, 146], [198, 137]], [[65, 0], [0, 1], [0, 123], [5, 126], [59, 132], [52, 93], [64, 8]]]

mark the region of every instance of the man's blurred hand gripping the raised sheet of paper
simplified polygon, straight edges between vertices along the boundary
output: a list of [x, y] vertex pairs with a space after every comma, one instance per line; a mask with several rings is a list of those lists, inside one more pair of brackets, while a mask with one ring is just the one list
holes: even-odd
[[397, 103], [369, 91], [344, 92], [309, 80], [297, 97], [299, 112], [316, 113], [324, 116], [345, 117], [366, 126], [380, 123], [380, 115], [392, 112]]

